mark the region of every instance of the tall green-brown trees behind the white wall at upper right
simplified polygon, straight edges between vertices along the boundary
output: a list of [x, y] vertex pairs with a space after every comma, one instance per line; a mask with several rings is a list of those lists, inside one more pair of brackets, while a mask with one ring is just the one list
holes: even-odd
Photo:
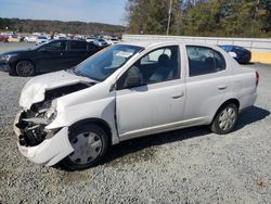
[[271, 0], [128, 0], [126, 14], [130, 34], [271, 37]]

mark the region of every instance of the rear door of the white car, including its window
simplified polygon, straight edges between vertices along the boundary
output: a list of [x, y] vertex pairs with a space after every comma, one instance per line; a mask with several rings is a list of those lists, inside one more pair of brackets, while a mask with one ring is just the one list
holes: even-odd
[[186, 103], [184, 119], [205, 124], [223, 102], [229, 73], [223, 55], [208, 47], [186, 46]]

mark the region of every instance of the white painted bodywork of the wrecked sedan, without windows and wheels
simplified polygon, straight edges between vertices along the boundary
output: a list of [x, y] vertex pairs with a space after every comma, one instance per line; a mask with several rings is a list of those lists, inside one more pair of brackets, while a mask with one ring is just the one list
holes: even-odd
[[[179, 79], [116, 90], [116, 81], [137, 60], [156, 48], [173, 44], [180, 47], [181, 53]], [[37, 146], [20, 148], [22, 154], [39, 164], [56, 164], [73, 151], [68, 144], [68, 127], [85, 119], [105, 122], [111, 129], [112, 144], [116, 144], [151, 133], [208, 125], [218, 109], [231, 99], [240, 102], [240, 111], [255, 103], [255, 71], [242, 68], [227, 52], [216, 46], [202, 44], [222, 53], [227, 68], [215, 74], [190, 77], [186, 44], [198, 46], [180, 42], [138, 42], [134, 46], [145, 49], [133, 55], [104, 81], [57, 98], [57, 115], [46, 129], [62, 130], [57, 137], [44, 140]], [[44, 100], [47, 90], [80, 81], [95, 82], [64, 71], [35, 77], [23, 89], [20, 105], [24, 110], [29, 110], [31, 104]], [[55, 151], [57, 146], [62, 146], [61, 152]], [[51, 149], [53, 151], [49, 153]]]

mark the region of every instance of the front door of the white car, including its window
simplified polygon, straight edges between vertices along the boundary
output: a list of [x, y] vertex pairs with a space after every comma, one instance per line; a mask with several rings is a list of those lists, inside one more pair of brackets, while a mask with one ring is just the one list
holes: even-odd
[[118, 79], [116, 116], [120, 140], [180, 126], [185, 84], [179, 59], [178, 46], [156, 49]]

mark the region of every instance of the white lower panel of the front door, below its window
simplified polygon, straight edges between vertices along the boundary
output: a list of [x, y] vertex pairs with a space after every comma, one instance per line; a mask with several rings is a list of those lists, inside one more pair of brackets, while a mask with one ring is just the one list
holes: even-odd
[[[180, 79], [117, 91], [120, 140], [154, 133], [162, 125], [181, 122], [185, 86]], [[127, 119], [127, 115], [131, 117]]]

